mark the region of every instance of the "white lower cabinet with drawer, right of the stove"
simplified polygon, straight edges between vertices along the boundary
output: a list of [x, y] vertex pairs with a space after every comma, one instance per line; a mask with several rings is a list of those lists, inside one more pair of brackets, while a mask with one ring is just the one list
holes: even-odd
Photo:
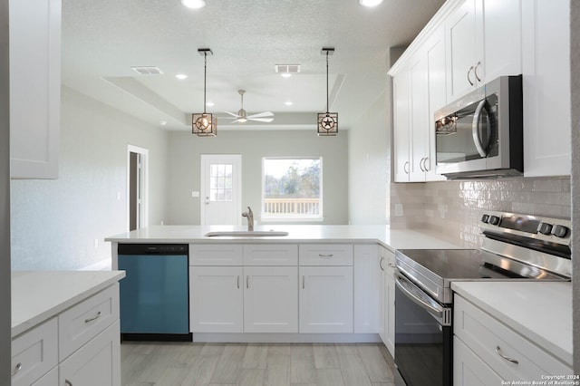
[[[515, 332], [492, 315], [459, 295], [454, 297], [453, 354], [455, 386], [500, 384], [504, 381], [543, 381], [547, 375], [570, 375], [572, 369], [527, 337]], [[462, 349], [465, 349], [462, 351]], [[490, 372], [493, 369], [493, 372]], [[477, 380], [484, 381], [478, 383]]]

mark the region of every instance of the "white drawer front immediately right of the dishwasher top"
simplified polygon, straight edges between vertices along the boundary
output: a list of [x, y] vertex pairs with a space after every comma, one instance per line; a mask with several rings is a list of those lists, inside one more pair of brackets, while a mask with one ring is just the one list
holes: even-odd
[[230, 244], [190, 244], [189, 265], [242, 265], [244, 248]]

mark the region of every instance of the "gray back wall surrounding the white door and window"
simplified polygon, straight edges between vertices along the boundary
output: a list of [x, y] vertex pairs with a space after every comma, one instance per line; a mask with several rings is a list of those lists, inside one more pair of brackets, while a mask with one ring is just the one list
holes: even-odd
[[[348, 133], [317, 137], [314, 130], [218, 130], [218, 137], [199, 138], [189, 132], [169, 135], [169, 218], [166, 224], [198, 225], [202, 154], [242, 155], [242, 208], [257, 213], [262, 198], [263, 157], [323, 157], [322, 224], [347, 224], [348, 215]], [[320, 224], [320, 223], [317, 223]]]

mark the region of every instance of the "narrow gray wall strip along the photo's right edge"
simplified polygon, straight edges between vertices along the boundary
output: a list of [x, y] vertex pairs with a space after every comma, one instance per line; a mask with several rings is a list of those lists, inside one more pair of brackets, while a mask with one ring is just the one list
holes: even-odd
[[574, 373], [580, 374], [580, 1], [571, 1], [570, 12], [570, 79], [572, 82], [572, 259]]

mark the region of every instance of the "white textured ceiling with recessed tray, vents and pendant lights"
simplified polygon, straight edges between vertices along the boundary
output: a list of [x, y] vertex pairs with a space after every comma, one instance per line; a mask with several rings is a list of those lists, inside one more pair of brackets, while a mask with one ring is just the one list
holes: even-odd
[[[273, 111], [269, 124], [220, 129], [315, 130], [326, 111], [329, 57], [331, 111], [350, 129], [384, 91], [389, 47], [410, 43], [442, 0], [384, 0], [365, 8], [358, 0], [206, 0], [190, 10], [179, 0], [63, 0], [63, 84], [168, 130], [189, 130], [190, 113], [203, 111], [203, 56], [208, 56], [208, 107], [218, 117], [240, 108]], [[282, 78], [275, 64], [301, 64]], [[142, 76], [133, 66], [157, 66]], [[189, 78], [179, 81], [178, 73]], [[293, 101], [286, 106], [285, 101]]]

